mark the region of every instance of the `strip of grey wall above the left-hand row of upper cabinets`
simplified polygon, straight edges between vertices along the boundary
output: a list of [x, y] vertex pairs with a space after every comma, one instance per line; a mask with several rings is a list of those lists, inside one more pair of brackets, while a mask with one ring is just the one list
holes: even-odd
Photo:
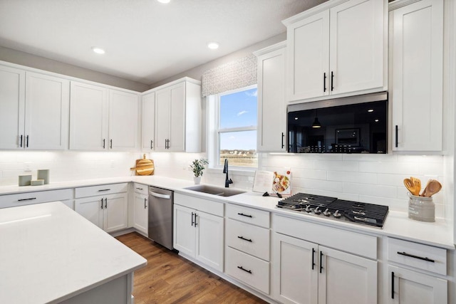
[[60, 61], [53, 61], [51, 59], [32, 55], [30, 53], [16, 51], [11, 48], [4, 48], [3, 46], [0, 46], [0, 61], [25, 65], [31, 68], [39, 68], [53, 73], [91, 80], [96, 83], [104, 83], [106, 85], [113, 85], [118, 88], [125, 88], [138, 92], [144, 92], [149, 88], [149, 85], [145, 85], [144, 83], [137, 83], [132, 80], [96, 72], [95, 70], [88, 70], [86, 68], [80, 68], [75, 65], [62, 63]]

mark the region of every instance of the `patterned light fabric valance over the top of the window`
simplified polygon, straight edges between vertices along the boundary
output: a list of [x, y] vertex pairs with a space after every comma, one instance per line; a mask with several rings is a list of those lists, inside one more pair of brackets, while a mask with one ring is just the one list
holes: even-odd
[[202, 96], [257, 84], [257, 57], [253, 54], [219, 65], [202, 74]]

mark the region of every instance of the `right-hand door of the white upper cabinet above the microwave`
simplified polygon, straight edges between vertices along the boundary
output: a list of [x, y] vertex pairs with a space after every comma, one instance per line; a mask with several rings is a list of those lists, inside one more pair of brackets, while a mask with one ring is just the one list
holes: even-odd
[[383, 87], [383, 0], [350, 0], [330, 9], [331, 94]]

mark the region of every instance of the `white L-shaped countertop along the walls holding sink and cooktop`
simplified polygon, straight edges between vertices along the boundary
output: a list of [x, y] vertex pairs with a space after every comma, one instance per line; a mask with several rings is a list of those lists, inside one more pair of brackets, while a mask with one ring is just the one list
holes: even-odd
[[[328, 226], [336, 226], [343, 229], [349, 229], [353, 231], [367, 232], [370, 234], [378, 234], [383, 236], [395, 237], [398, 239], [405, 239], [408, 241], [416, 241], [420, 243], [426, 243], [428, 245], [442, 247], [454, 250], [455, 244], [452, 236], [452, 227], [442, 219], [437, 219], [435, 223], [425, 223], [422, 221], [415, 221], [408, 219], [406, 212], [389, 211], [386, 217], [383, 229], [377, 229], [371, 226], [363, 226], [359, 224], [351, 224], [344, 221], [333, 221], [331, 219], [325, 219], [321, 216], [308, 216], [294, 211], [286, 211], [277, 209], [276, 204], [279, 198], [276, 196], [261, 196], [261, 193], [246, 192], [244, 194], [238, 194], [235, 196], [223, 197], [214, 196], [212, 194], [204, 194], [200, 192], [193, 192], [191, 190], [184, 189], [185, 187], [194, 186], [192, 181], [183, 179], [172, 179], [169, 177], [160, 177], [156, 175], [151, 176], [132, 176], [132, 177], [116, 177], [108, 179], [88, 179], [83, 181], [75, 182], [61, 182], [52, 183], [44, 186], [26, 186], [26, 187], [0, 187], [0, 194], [11, 194], [18, 192], [32, 192], [32, 191], [43, 191], [50, 189], [63, 189], [71, 187], [86, 187], [93, 186], [96, 184], [113, 184], [120, 182], [138, 182], [140, 184], [146, 184], [155, 187], [162, 187], [170, 189], [175, 192], [182, 194], [189, 194], [193, 196], [200, 196], [206, 199], [212, 199], [217, 201], [223, 201], [229, 204], [239, 204], [243, 206], [250, 206], [257, 209], [274, 212], [275, 214], [281, 214], [296, 219], [303, 219], [306, 221], [313, 221], [318, 224], [326, 224]], [[217, 187], [223, 187], [223, 185], [216, 185]], [[19, 190], [18, 190], [19, 189]]]

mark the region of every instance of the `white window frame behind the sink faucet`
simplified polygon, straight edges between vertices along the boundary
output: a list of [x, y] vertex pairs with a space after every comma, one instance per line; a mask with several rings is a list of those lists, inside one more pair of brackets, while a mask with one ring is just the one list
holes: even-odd
[[[258, 89], [258, 85], [248, 85], [247, 87], [228, 90], [226, 92], [207, 96], [207, 157], [209, 159], [209, 169], [223, 169], [223, 164], [219, 164], [220, 159], [220, 134], [226, 132], [257, 131], [257, 125], [248, 127], [226, 127], [220, 128], [220, 99], [224, 95], [230, 95], [246, 90]], [[257, 117], [258, 117], [258, 98], [257, 98]], [[258, 118], [257, 118], [258, 119]], [[255, 139], [255, 151], [258, 158], [258, 141]], [[230, 171], [254, 172], [257, 167], [230, 166]]]

